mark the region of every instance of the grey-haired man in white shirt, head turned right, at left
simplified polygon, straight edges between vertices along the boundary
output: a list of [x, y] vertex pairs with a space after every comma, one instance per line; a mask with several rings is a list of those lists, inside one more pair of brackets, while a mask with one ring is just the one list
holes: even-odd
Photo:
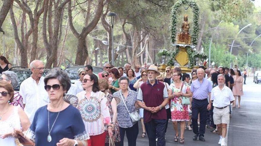
[[36, 110], [49, 103], [48, 94], [44, 89], [44, 63], [34, 60], [30, 63], [31, 77], [20, 85], [19, 93], [23, 97], [24, 111], [30, 122], [33, 122]]

